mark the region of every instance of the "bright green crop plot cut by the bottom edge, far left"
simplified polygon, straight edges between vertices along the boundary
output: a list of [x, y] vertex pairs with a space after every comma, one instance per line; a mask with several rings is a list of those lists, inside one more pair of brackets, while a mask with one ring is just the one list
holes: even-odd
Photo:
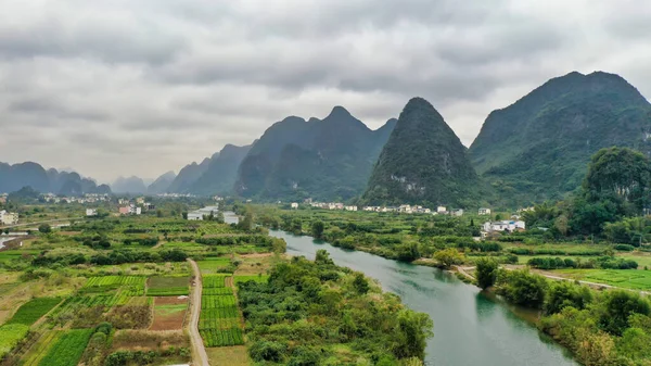
[[76, 366], [86, 350], [92, 329], [72, 329], [52, 345], [39, 366]]

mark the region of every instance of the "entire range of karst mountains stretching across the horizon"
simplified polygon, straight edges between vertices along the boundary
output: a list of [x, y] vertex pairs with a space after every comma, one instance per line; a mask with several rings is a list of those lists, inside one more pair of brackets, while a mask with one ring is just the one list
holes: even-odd
[[[651, 104], [618, 75], [556, 77], [493, 111], [470, 149], [434, 106], [411, 99], [398, 119], [371, 130], [345, 108], [322, 119], [289, 116], [250, 146], [226, 144], [148, 185], [120, 177], [133, 194], [239, 195], [259, 201], [524, 205], [579, 187], [591, 154], [611, 146], [651, 153]], [[106, 192], [74, 172], [0, 163], [0, 191]]]

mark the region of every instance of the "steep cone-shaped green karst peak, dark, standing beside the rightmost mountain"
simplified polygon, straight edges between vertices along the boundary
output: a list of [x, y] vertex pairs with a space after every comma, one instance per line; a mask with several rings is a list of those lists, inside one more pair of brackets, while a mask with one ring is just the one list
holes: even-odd
[[411, 99], [380, 153], [362, 201], [476, 205], [481, 181], [467, 149], [441, 114]]

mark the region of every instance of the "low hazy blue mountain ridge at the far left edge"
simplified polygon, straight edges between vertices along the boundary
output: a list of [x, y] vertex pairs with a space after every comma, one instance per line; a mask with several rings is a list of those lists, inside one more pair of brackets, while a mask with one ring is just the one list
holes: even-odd
[[40, 164], [25, 162], [10, 165], [0, 163], [0, 192], [14, 192], [23, 187], [31, 187], [42, 193], [77, 195], [82, 193], [107, 192], [107, 187], [98, 187], [95, 181], [77, 173], [46, 171]]

